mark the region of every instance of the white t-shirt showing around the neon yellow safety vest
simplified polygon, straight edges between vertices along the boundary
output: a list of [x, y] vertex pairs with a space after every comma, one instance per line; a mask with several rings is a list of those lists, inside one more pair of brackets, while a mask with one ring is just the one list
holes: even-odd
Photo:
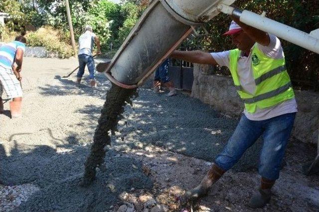
[[[257, 43], [258, 49], [271, 58], [274, 58], [274, 59], [284, 58], [285, 55], [284, 55], [284, 51], [281, 46], [280, 40], [275, 35], [272, 35], [272, 34], [269, 34], [269, 37], [270, 37], [269, 45], [263, 46]], [[229, 68], [229, 51], [215, 52], [215, 53], [211, 53], [211, 55], [215, 59], [215, 61], [218, 63], [218, 65], [226, 66]], [[240, 85], [242, 86], [242, 88], [250, 94], [255, 94], [256, 83], [253, 77], [251, 56], [252, 56], [252, 49], [250, 50], [248, 57], [244, 56], [243, 52], [241, 52], [237, 62], [237, 65], [238, 65], [237, 71], [238, 71]], [[297, 111], [298, 111], [297, 102], [296, 102], [296, 99], [293, 98], [293, 99], [286, 100], [273, 107], [268, 107], [264, 109], [257, 108], [255, 113], [249, 113], [245, 109], [244, 114], [250, 120], [261, 121], [261, 120], [270, 119], [270, 118], [287, 114], [287, 113], [294, 113]]]

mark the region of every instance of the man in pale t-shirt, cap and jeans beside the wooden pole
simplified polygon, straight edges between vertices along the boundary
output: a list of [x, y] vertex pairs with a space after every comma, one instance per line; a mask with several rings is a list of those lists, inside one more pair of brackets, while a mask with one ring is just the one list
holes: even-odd
[[95, 79], [95, 63], [92, 56], [93, 43], [95, 42], [98, 51], [97, 55], [101, 54], [101, 45], [99, 38], [93, 33], [93, 28], [90, 25], [86, 25], [84, 28], [84, 33], [79, 37], [79, 71], [77, 73], [77, 83], [80, 84], [82, 76], [84, 74], [85, 65], [89, 69], [90, 73], [90, 85], [91, 87], [96, 87]]

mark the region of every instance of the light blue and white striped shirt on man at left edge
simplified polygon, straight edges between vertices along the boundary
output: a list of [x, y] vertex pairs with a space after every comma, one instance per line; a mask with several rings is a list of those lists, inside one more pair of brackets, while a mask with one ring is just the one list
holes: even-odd
[[15, 52], [20, 48], [25, 50], [25, 44], [20, 41], [12, 41], [7, 44], [3, 44], [0, 47], [0, 66], [3, 68], [11, 69], [14, 63]]

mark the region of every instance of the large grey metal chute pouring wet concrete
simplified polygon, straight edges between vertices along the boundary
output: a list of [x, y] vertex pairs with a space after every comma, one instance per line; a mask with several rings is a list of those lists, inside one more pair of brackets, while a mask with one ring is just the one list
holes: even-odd
[[[104, 72], [124, 88], [141, 85], [192, 32], [235, 0], [152, 0]], [[208, 9], [207, 9], [208, 8]]]

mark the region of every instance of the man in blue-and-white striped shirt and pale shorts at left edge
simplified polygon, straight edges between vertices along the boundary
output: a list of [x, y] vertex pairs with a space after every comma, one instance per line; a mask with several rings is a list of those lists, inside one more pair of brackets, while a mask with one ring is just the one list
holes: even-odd
[[[14, 41], [0, 47], [0, 113], [3, 112], [2, 93], [5, 91], [10, 102], [11, 117], [21, 116], [22, 89], [19, 80], [14, 74], [21, 71], [23, 52], [26, 39], [17, 36]], [[15, 66], [16, 64], [16, 66]]]

